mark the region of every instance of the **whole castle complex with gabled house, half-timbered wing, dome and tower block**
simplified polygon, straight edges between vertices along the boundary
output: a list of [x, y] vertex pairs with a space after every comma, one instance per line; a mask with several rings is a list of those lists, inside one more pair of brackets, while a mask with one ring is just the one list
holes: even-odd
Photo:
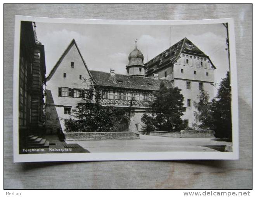
[[[47, 77], [46, 125], [48, 133], [65, 131], [64, 119], [81, 99], [80, 88], [87, 88], [83, 79], [91, 79], [102, 93], [102, 105], [131, 107], [133, 114], [123, 117], [125, 130], [136, 131], [142, 124], [141, 116], [146, 110], [146, 98], [159, 90], [161, 82], [166, 87], [178, 86], [185, 97], [183, 119], [194, 122], [193, 101], [204, 88], [213, 97], [214, 69], [211, 60], [192, 42], [184, 38], [174, 46], [143, 63], [144, 56], [135, 49], [128, 56], [126, 75], [88, 70], [83, 56], [74, 41], [71, 41]], [[125, 68], [125, 66], [124, 66]]]

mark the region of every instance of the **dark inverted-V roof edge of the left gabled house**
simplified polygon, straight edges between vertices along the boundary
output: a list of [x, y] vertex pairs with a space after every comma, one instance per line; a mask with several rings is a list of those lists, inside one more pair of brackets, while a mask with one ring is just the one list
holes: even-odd
[[52, 70], [50, 71], [50, 74], [47, 76], [46, 81], [50, 80], [50, 78], [52, 78], [52, 75], [54, 75], [55, 71], [57, 70], [58, 66], [61, 64], [62, 60], [64, 59], [64, 57], [66, 56], [66, 54], [69, 52], [69, 50], [72, 48], [72, 46], [75, 45], [76, 49], [83, 61], [83, 64], [85, 65], [85, 69], [88, 71], [89, 75], [92, 77], [90, 71], [87, 68], [87, 65], [85, 63], [85, 60], [83, 59], [83, 56], [81, 55], [81, 52], [76, 44], [75, 39], [73, 39], [69, 45], [67, 46], [66, 50], [63, 52], [63, 54], [61, 55], [61, 57], [59, 58], [59, 60], [57, 61], [57, 63], [55, 64], [55, 66], [52, 68]]

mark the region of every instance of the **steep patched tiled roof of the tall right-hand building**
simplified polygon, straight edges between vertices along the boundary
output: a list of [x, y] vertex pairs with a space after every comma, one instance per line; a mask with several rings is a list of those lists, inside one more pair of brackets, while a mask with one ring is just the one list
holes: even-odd
[[[150, 75], [157, 70], [164, 68], [165, 66], [171, 65], [178, 59], [181, 53], [204, 56], [208, 58], [213, 65], [209, 56], [204, 54], [204, 52], [202, 52], [197, 46], [195, 46], [193, 42], [185, 37], [170, 48], [166, 49], [164, 52], [160, 53], [159, 55], [145, 63], [145, 66], [147, 67], [146, 75]], [[157, 68], [155, 68], [156, 65]], [[213, 67], [216, 68], [214, 65]]]

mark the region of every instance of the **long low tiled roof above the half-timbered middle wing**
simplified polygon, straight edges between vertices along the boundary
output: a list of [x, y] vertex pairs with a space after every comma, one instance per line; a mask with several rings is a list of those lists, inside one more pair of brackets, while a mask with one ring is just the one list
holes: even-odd
[[90, 73], [93, 81], [99, 86], [153, 91], [159, 90], [159, 85], [163, 82], [166, 87], [172, 87], [170, 81], [163, 79], [154, 80], [144, 76], [111, 75], [110, 73], [93, 70], [90, 70]]

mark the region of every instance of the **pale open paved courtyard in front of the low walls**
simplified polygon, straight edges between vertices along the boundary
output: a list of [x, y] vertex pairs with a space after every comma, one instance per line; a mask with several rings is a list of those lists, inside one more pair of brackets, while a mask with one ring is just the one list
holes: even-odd
[[230, 142], [215, 138], [169, 138], [140, 135], [140, 139], [130, 140], [87, 140], [66, 141], [79, 144], [91, 153], [106, 152], [165, 152], [165, 151], [204, 151], [213, 152], [224, 149]]

